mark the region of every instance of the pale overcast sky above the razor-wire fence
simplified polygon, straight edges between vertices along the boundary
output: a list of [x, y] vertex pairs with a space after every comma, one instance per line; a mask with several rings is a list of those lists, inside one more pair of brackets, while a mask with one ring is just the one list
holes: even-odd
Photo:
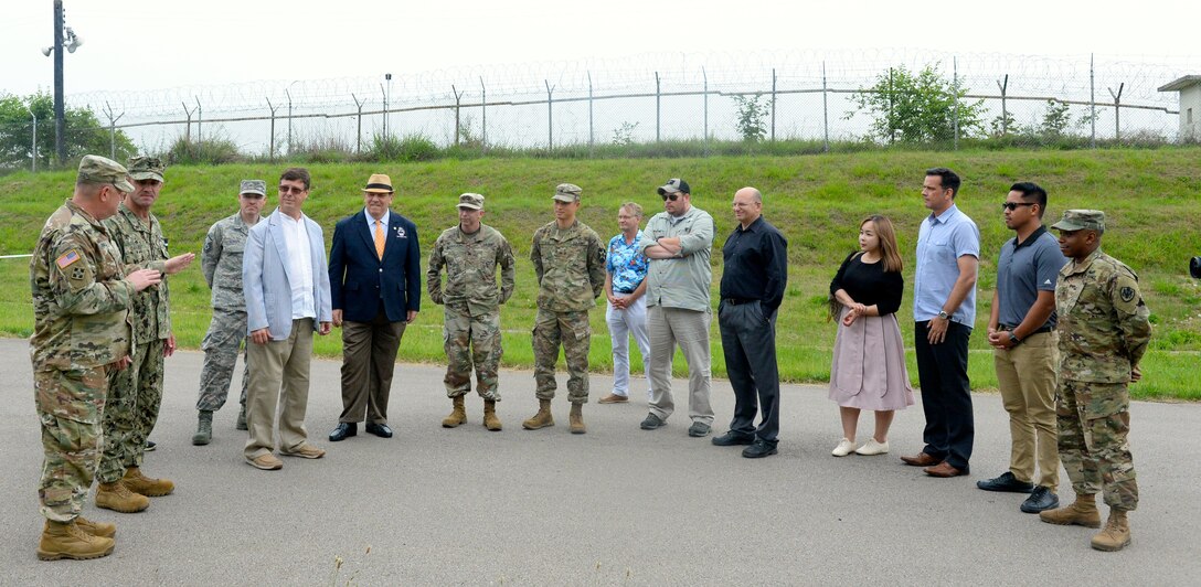
[[[1134, 6], [1135, 8], [1131, 8]], [[65, 0], [66, 92], [370, 77], [649, 53], [907, 48], [1199, 55], [1195, 1]], [[7, 0], [0, 92], [53, 88], [52, 0]], [[1197, 60], [1201, 73], [1201, 60]]]

